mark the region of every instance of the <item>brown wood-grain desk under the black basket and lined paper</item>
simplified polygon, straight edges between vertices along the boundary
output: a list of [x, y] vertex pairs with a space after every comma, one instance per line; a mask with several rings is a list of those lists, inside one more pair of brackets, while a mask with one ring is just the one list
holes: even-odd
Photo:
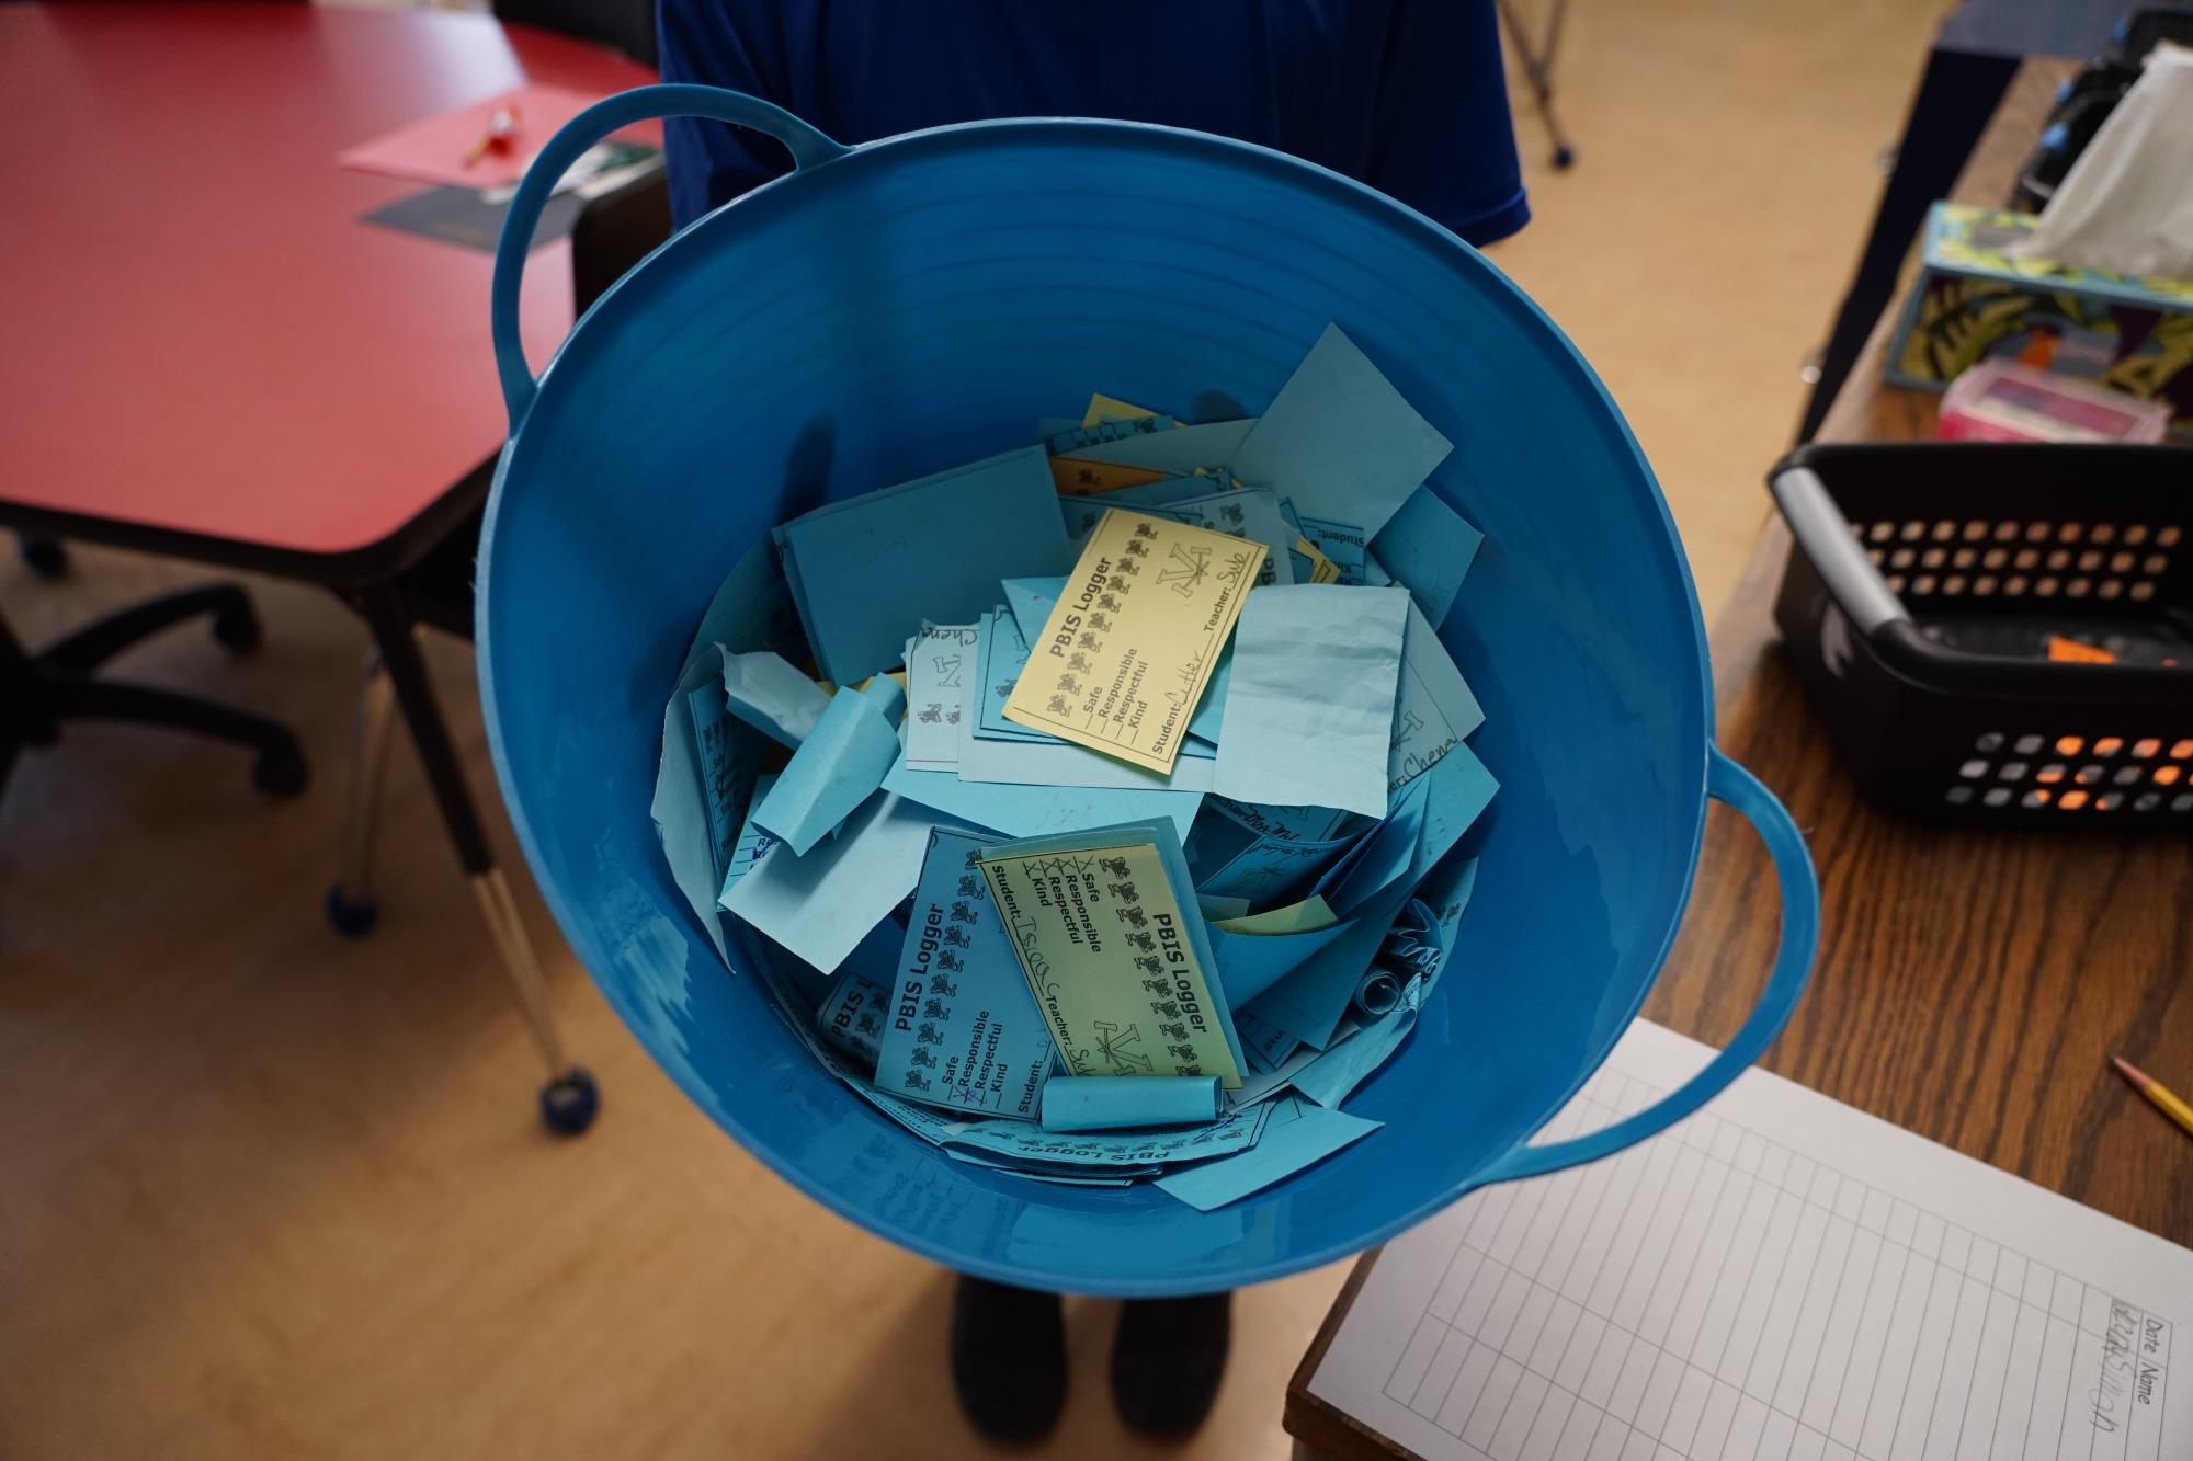
[[[2002, 202], [2070, 70], [2024, 64], [1952, 197]], [[1820, 441], [1934, 434], [1939, 397], [1882, 384], [1893, 322], [1890, 307]], [[1776, 647], [1772, 605], [1787, 553], [1789, 533], [1768, 518], [1713, 623], [1719, 744], [1783, 799], [1820, 869], [1811, 987], [1761, 1064], [2193, 1242], [2193, 1141], [2110, 1071], [2110, 1055], [2123, 1053], [2178, 1090], [2193, 1086], [2193, 842], [1925, 827], [1862, 801]], [[1752, 1007], [1774, 939], [1765, 853], [1715, 807], [1645, 1018], [1724, 1044]], [[1375, 1261], [1357, 1261], [1287, 1384], [1298, 1454], [1410, 1454], [1307, 1389]]]

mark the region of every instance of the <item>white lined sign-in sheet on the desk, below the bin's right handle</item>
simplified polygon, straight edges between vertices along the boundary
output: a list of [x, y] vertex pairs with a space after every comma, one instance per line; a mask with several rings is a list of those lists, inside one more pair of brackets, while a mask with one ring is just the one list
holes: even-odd
[[[1638, 1020], [1542, 1141], [1708, 1057]], [[2189, 1316], [2193, 1253], [1750, 1071], [1388, 1244], [1309, 1389], [1430, 1461], [2182, 1461]]]

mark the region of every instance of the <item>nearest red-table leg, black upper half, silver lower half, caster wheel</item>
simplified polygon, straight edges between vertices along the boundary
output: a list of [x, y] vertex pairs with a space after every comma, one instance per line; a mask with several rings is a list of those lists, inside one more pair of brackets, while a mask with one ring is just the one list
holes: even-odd
[[548, 1084], [539, 1097], [542, 1121], [553, 1132], [583, 1132], [594, 1123], [601, 1097], [594, 1077], [564, 1060], [564, 1040], [557, 1035], [555, 1016], [548, 1009], [548, 987], [542, 978], [539, 961], [533, 956], [533, 941], [518, 917], [511, 884], [502, 877], [502, 869], [496, 867], [496, 858], [487, 847], [480, 814], [471, 805], [463, 766], [458, 766], [456, 748], [450, 744], [450, 728], [443, 724], [441, 706], [434, 700], [434, 684], [428, 680], [425, 660], [419, 656], [412, 619], [404, 608], [401, 594], [388, 584], [360, 590], [355, 603], [373, 630], [382, 667], [395, 689], [404, 722], [410, 726], [412, 744], [419, 748], [428, 785], [434, 788], [434, 801], [441, 807], [441, 820], [450, 829], [450, 842], [456, 847], [456, 860], [463, 864], [471, 882], [471, 893], [480, 902], [480, 915], [487, 919], [487, 932], [496, 941], [502, 972], [518, 996], [518, 1009], [524, 1013], [526, 1027], [533, 1031], [533, 1044], [548, 1066]]

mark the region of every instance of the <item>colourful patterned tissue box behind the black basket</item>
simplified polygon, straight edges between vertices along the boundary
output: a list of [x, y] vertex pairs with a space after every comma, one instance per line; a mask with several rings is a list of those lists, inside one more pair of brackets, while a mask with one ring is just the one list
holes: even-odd
[[1934, 204], [1888, 380], [1943, 390], [1982, 360], [2015, 360], [2164, 401], [2171, 432], [2193, 439], [2193, 281], [2002, 252], [2037, 222], [2031, 213]]

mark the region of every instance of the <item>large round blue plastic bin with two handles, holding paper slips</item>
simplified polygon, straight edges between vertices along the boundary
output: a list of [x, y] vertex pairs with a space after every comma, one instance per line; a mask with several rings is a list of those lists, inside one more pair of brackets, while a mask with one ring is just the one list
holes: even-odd
[[[594, 138], [671, 114], [759, 127], [798, 169], [664, 244], [533, 380], [518, 281], [550, 182]], [[1349, 1103], [1386, 1130], [1215, 1213], [950, 1160], [825, 1075], [671, 884], [649, 796], [686, 641], [774, 522], [1024, 441], [1092, 388], [1252, 415], [1327, 322], [1454, 441], [1432, 485], [1487, 535], [1443, 638], [1489, 713], [1472, 746], [1500, 796], [1465, 842], [1482, 867], [1450, 972]], [[1274, 1279], [1658, 1132], [1787, 1020], [1818, 888], [1787, 812], [1713, 748], [1697, 597], [1651, 469], [1561, 331], [1419, 213], [1191, 132], [1011, 121], [849, 149], [750, 97], [662, 86], [590, 107], [533, 165], [493, 333], [511, 441], [480, 548], [480, 691], [524, 853], [662, 1068], [853, 1222], [1070, 1292]], [[950, 555], [936, 526], [906, 551]], [[1660, 1106], [1526, 1145], [1651, 987], [1708, 796], [1752, 820], [1781, 877], [1759, 1007]]]

